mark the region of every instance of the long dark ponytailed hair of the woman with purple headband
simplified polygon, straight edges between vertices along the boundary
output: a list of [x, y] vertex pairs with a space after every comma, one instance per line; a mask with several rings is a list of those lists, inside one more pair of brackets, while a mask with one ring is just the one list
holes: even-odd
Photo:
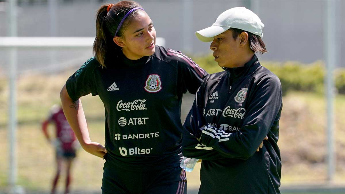
[[[109, 4], [101, 6], [96, 15], [96, 39], [93, 42], [93, 54], [96, 56], [98, 62], [106, 67], [106, 59], [108, 54], [116, 54], [121, 50], [121, 47], [116, 45], [113, 41], [118, 25], [125, 14], [133, 8], [140, 7], [140, 4], [135, 1], [119, 1], [112, 5], [107, 10]], [[116, 36], [122, 37], [124, 31], [130, 25], [130, 21], [134, 18], [141, 9], [131, 12], [124, 23], [120, 27]], [[141, 10], [142, 11], [142, 10]]]

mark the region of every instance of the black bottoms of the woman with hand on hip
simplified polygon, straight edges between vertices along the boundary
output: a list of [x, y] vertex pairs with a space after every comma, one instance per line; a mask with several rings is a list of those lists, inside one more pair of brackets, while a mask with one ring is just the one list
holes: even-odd
[[102, 193], [176, 193], [187, 192], [186, 172], [181, 167], [133, 172], [105, 162]]

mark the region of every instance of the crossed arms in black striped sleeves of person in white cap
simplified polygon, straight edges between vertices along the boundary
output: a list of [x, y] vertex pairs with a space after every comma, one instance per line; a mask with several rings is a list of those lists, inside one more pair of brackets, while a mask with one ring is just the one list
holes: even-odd
[[[273, 79], [273, 80], [272, 80]], [[280, 82], [269, 77], [258, 84], [243, 118], [243, 125], [236, 133], [206, 126], [203, 116], [203, 87], [199, 88], [194, 104], [186, 118], [183, 136], [183, 154], [186, 157], [215, 160], [221, 158], [248, 159], [263, 140], [273, 138], [271, 127], [279, 120], [282, 108]], [[269, 142], [269, 141], [268, 141]]]

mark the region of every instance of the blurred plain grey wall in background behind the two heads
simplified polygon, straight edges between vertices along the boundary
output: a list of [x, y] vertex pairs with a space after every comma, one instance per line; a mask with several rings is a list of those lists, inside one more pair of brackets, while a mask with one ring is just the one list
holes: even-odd
[[[269, 52], [260, 59], [310, 63], [324, 58], [325, 0], [190, 0], [193, 18], [189, 20], [184, 18], [185, 1], [137, 0], [154, 22], [157, 36], [164, 37], [169, 48], [195, 55], [211, 53], [209, 43], [198, 41], [195, 31], [210, 26], [226, 9], [247, 6], [252, 7], [265, 24], [263, 40]], [[95, 36], [96, 10], [106, 2], [112, 1], [56, 0], [56, 32], [52, 33], [49, 0], [19, 1], [18, 35]], [[341, 36], [345, 32], [341, 11], [345, 9], [345, 2], [336, 0], [336, 3], [340, 55], [345, 50], [345, 36]], [[0, 36], [7, 33], [6, 9], [6, 2], [0, 2]], [[186, 25], [190, 26], [189, 32], [183, 30]], [[184, 42], [184, 33], [190, 33], [189, 42]], [[339, 61], [337, 66], [345, 67], [345, 62]]]

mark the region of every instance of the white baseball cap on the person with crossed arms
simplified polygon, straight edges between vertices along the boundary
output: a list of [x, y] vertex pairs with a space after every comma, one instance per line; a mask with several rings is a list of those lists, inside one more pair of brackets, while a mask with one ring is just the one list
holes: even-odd
[[203, 42], [213, 41], [213, 37], [230, 28], [238, 28], [263, 37], [264, 24], [260, 18], [245, 7], [234, 7], [221, 13], [212, 26], [196, 31], [196, 37]]

